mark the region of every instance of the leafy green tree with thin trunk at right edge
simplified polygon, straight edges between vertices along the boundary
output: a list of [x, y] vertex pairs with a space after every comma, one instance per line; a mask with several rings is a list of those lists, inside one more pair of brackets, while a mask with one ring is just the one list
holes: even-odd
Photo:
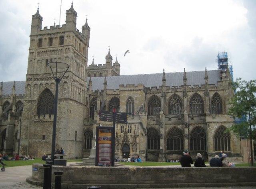
[[237, 90], [230, 101], [229, 114], [238, 118], [245, 118], [239, 124], [234, 124], [228, 130], [233, 130], [238, 136], [250, 139], [251, 163], [254, 165], [254, 154], [252, 149], [252, 131], [256, 125], [256, 80], [244, 81], [241, 78], [232, 83]]

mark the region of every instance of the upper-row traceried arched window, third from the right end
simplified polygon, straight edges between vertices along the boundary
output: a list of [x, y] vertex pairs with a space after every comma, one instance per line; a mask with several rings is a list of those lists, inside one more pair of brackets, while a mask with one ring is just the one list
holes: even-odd
[[180, 115], [182, 114], [182, 101], [178, 95], [172, 95], [168, 103], [168, 113], [169, 115]]

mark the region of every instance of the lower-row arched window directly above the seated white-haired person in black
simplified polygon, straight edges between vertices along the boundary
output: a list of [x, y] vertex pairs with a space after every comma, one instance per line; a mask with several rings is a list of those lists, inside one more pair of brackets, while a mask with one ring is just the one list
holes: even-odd
[[190, 150], [206, 150], [206, 133], [202, 127], [196, 127], [190, 134]]

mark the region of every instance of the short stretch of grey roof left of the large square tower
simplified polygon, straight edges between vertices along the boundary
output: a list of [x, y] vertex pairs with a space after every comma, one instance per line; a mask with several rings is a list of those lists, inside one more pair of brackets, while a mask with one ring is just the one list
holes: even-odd
[[[3, 95], [12, 95], [12, 87], [14, 81], [3, 82]], [[24, 95], [25, 94], [26, 81], [15, 81], [15, 94]]]

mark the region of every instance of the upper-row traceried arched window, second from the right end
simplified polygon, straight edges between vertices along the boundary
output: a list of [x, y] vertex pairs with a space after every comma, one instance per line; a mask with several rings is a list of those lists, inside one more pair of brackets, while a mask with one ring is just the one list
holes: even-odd
[[204, 113], [204, 100], [197, 93], [194, 94], [189, 102], [190, 114], [203, 114]]

